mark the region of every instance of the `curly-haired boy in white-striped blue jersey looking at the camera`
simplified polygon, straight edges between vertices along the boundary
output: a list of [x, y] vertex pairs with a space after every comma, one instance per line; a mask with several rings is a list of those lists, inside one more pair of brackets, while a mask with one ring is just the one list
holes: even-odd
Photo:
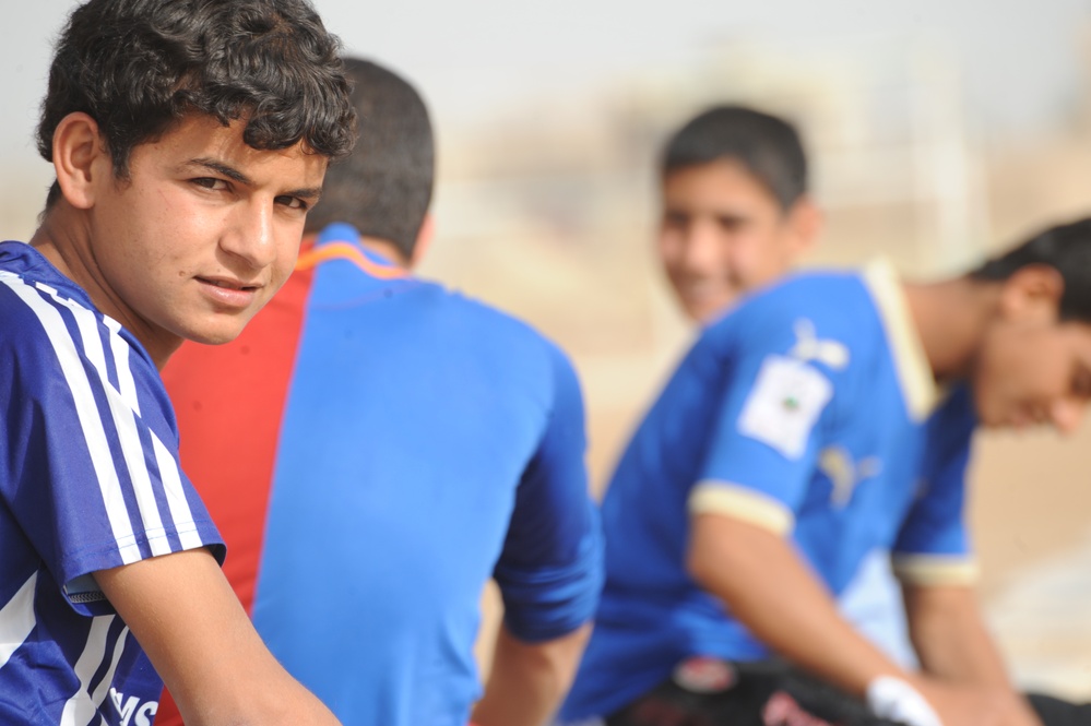
[[336, 723], [223, 578], [158, 368], [290, 272], [355, 134], [337, 50], [301, 0], [70, 16], [38, 127], [57, 180], [29, 245], [0, 243], [0, 722], [142, 726], [166, 681], [194, 724]]

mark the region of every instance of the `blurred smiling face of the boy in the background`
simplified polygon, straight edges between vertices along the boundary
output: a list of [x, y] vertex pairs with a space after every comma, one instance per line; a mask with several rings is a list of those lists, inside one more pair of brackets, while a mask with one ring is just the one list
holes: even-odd
[[659, 252], [686, 314], [708, 322], [787, 272], [819, 225], [808, 200], [785, 211], [742, 164], [718, 159], [663, 179]]

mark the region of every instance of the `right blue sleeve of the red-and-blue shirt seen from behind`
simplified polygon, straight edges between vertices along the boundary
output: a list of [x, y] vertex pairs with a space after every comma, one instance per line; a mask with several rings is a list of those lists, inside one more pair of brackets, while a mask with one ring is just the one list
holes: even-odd
[[565, 635], [593, 616], [603, 583], [598, 509], [588, 490], [583, 400], [576, 372], [549, 348], [553, 407], [515, 492], [494, 576], [505, 623], [526, 642]]

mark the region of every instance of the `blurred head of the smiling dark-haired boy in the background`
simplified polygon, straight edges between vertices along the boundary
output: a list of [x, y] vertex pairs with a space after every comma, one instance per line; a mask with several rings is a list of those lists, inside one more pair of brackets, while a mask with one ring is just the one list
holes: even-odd
[[803, 144], [770, 114], [699, 114], [667, 141], [661, 171], [660, 261], [696, 322], [784, 275], [821, 234]]

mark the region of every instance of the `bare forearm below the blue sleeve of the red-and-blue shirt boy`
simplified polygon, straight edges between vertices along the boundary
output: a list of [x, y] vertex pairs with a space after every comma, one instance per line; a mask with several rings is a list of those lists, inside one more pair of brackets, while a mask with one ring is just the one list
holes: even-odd
[[591, 624], [543, 643], [524, 643], [501, 627], [476, 726], [542, 726], [560, 706], [576, 676]]

